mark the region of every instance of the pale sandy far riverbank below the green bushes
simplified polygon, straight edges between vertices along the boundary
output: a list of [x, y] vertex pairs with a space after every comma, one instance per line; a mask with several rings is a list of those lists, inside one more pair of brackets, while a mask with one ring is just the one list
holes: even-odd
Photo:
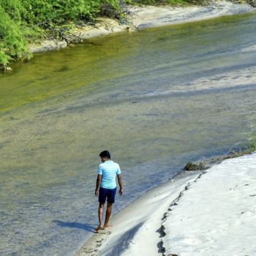
[[[98, 18], [94, 25], [76, 27], [71, 37], [76, 42], [83, 42], [91, 37], [100, 37], [124, 31], [165, 26], [176, 23], [192, 22], [217, 18], [223, 15], [234, 15], [254, 10], [249, 4], [234, 4], [230, 1], [213, 1], [208, 7], [170, 7], [170, 6], [143, 6], [127, 7], [125, 23], [110, 18]], [[48, 50], [58, 50], [69, 45], [67, 40], [45, 40], [39, 45], [30, 45], [32, 53]]]

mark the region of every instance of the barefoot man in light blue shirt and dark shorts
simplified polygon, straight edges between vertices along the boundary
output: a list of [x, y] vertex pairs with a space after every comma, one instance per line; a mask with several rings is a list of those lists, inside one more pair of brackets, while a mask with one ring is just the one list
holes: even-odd
[[[111, 215], [112, 205], [113, 203], [115, 203], [116, 176], [118, 178], [119, 194], [123, 194], [121, 170], [119, 165], [110, 159], [111, 157], [109, 151], [102, 151], [99, 154], [99, 157], [101, 157], [102, 159], [102, 164], [100, 164], [98, 168], [98, 176], [95, 189], [95, 195], [99, 196], [99, 226], [95, 228], [96, 232], [102, 229], [108, 229], [108, 227], [110, 227], [108, 225], [108, 222]], [[105, 223], [103, 225], [103, 209], [106, 199], [108, 201], [108, 206], [106, 211]]]

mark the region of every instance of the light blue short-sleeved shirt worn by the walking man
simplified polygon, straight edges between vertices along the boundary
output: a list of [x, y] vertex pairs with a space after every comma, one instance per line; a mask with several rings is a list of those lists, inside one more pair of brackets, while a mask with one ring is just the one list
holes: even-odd
[[100, 187], [105, 189], [115, 189], [116, 175], [121, 174], [121, 170], [116, 162], [108, 160], [99, 165], [98, 174], [102, 175]]

